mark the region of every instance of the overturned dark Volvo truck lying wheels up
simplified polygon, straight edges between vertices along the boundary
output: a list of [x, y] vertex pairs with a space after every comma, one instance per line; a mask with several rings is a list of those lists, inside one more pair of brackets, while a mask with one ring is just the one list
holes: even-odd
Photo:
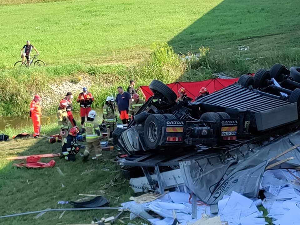
[[153, 80], [153, 96], [128, 129], [113, 132], [113, 140], [133, 155], [199, 146], [228, 149], [288, 133], [299, 126], [299, 72], [275, 64], [270, 71], [260, 69], [254, 78], [242, 75], [237, 83], [194, 102], [176, 102], [177, 95], [167, 85]]

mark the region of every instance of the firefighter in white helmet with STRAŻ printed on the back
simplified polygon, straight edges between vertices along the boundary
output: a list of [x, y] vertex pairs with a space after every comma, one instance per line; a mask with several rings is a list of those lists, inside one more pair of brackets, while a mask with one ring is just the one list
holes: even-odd
[[95, 121], [96, 118], [96, 111], [91, 110], [88, 113], [88, 118], [83, 124], [83, 134], [82, 136], [86, 139], [86, 147], [84, 150], [84, 153], [82, 155], [83, 161], [88, 160], [88, 156], [95, 151], [95, 156], [92, 157], [92, 159], [98, 159], [100, 156], [102, 156], [102, 148], [100, 143], [100, 138], [102, 137], [102, 134], [100, 132], [100, 128], [98, 126], [98, 123]]

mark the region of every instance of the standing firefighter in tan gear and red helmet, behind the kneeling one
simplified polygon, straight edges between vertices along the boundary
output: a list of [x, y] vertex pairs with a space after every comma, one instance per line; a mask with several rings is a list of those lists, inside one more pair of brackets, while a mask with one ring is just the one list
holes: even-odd
[[68, 104], [69, 103], [67, 100], [64, 99], [61, 100], [59, 102], [59, 109], [57, 111], [57, 122], [58, 122], [58, 127], [60, 129], [60, 134], [62, 138], [66, 138], [69, 133], [69, 120], [68, 120], [68, 113], [67, 113]]

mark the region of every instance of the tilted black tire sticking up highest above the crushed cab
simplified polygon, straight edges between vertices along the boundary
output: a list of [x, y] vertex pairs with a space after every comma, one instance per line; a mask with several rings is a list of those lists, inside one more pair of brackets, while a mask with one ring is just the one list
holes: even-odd
[[177, 95], [171, 88], [169, 88], [167, 85], [164, 83], [158, 81], [158, 80], [153, 80], [150, 85], [149, 85], [150, 90], [154, 94], [160, 94], [163, 95], [165, 98], [168, 99], [168, 103], [174, 103], [177, 99]]

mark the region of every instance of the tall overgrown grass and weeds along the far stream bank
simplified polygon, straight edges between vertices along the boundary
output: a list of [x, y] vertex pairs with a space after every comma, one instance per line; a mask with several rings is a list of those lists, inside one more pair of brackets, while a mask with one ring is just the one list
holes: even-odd
[[[246, 60], [242, 55], [214, 55], [209, 47], [198, 49], [199, 58], [192, 53], [191, 59], [183, 60], [178, 57], [168, 44], [152, 45], [152, 53], [136, 65], [86, 65], [64, 64], [49, 67], [12, 68], [0, 71], [0, 115], [27, 116], [28, 105], [35, 93], [44, 93], [50, 96], [51, 105], [43, 107], [43, 113], [55, 113], [58, 101], [63, 96], [52, 96], [52, 84], [62, 81], [77, 83], [88, 78], [89, 90], [95, 97], [93, 108], [101, 108], [108, 95], [116, 95], [116, 88], [128, 86], [128, 81], [136, 80], [136, 85], [148, 85], [153, 79], [164, 83], [174, 81], [199, 81], [212, 78], [212, 73], [227, 72], [232, 77], [240, 74], [255, 72], [259, 68], [270, 68], [274, 63], [283, 63], [289, 66], [300, 65], [300, 52], [285, 51], [265, 53], [262, 57]], [[67, 92], [68, 90], [66, 90]], [[74, 93], [81, 91], [78, 89]], [[73, 104], [78, 110], [78, 104]]]

